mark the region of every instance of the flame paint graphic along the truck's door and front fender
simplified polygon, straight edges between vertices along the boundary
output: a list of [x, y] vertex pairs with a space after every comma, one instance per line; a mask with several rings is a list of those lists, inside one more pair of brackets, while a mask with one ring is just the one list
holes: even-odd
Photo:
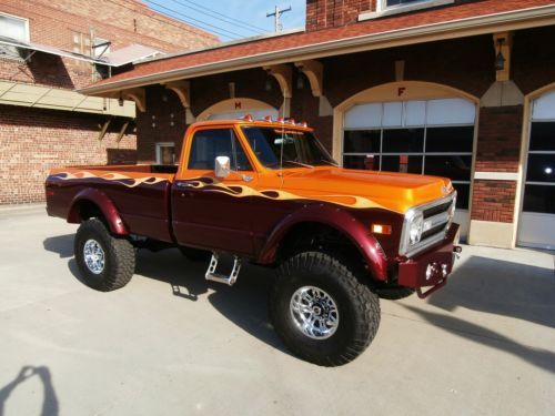
[[263, 190], [256, 191], [253, 187], [245, 185], [225, 185], [221, 182], [213, 180], [212, 177], [195, 177], [186, 181], [191, 184], [192, 187], [195, 189], [205, 189], [208, 192], [216, 192], [224, 193], [230, 196], [235, 197], [246, 197], [246, 196], [260, 196], [268, 200], [278, 200], [278, 201], [286, 201], [286, 200], [305, 200], [305, 201], [322, 201], [329, 202], [342, 206], [355, 207], [355, 209], [386, 209], [379, 203], [371, 201], [363, 196], [356, 195], [312, 195], [312, 196], [302, 196], [296, 195], [291, 192], [280, 191], [280, 190]]

